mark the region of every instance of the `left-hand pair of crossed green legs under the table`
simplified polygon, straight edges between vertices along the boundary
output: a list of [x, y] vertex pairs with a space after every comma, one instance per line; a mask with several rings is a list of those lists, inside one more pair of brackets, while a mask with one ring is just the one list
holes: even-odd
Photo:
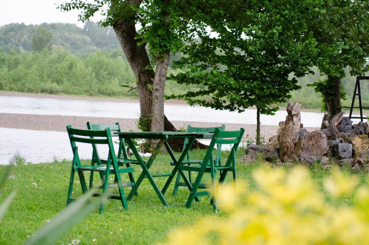
[[154, 159], [156, 157], [156, 155], [158, 155], [163, 143], [166, 141], [165, 139], [161, 139], [159, 140], [158, 145], [156, 145], [155, 150], [152, 152], [151, 157], [149, 158], [149, 160], [145, 162], [142, 160], [141, 156], [138, 154], [138, 151], [135, 147], [135, 145], [132, 143], [131, 139], [127, 138], [125, 139], [127, 144], [129, 145], [129, 147], [132, 150], [132, 153], [135, 155], [135, 157], [137, 158], [138, 163], [141, 165], [142, 168], [142, 173], [140, 174], [140, 176], [138, 177], [134, 187], [132, 188], [130, 194], [127, 197], [127, 200], [130, 200], [135, 192], [137, 191], [139, 185], [141, 185], [142, 180], [144, 179], [145, 175], [146, 177], [149, 179], [152, 187], [154, 188], [156, 194], [158, 195], [160, 201], [162, 202], [163, 205], [165, 206], [169, 206], [168, 202], [166, 201], [164, 195], [162, 194], [162, 192], [160, 191], [158, 185], [156, 184], [154, 178], [151, 176], [150, 172], [149, 172], [149, 168], [151, 167], [152, 163], [154, 162]]

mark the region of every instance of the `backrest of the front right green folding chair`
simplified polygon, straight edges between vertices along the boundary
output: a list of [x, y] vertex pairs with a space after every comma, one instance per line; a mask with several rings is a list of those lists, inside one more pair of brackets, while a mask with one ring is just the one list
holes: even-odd
[[[235, 165], [235, 159], [236, 159], [235, 154], [237, 152], [238, 145], [242, 140], [244, 132], [245, 130], [243, 128], [241, 128], [240, 130], [236, 130], [236, 131], [224, 131], [224, 130], [220, 130], [219, 128], [215, 129], [213, 138], [211, 138], [211, 142], [210, 142], [209, 148], [206, 152], [203, 162], [207, 163], [209, 162], [210, 158], [213, 157], [212, 153], [213, 153], [213, 148], [215, 144], [220, 144], [220, 145], [233, 144], [230, 155], [225, 165], [226, 166], [230, 164]], [[213, 164], [213, 161], [210, 161], [210, 164]]]

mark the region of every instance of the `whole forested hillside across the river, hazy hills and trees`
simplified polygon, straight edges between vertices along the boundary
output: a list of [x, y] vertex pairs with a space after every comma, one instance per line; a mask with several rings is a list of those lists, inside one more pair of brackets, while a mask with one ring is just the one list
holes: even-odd
[[[37, 35], [38, 32], [41, 34]], [[40, 43], [36, 38], [43, 38], [45, 33], [51, 37], [51, 50], [35, 50], [32, 38], [34, 44]], [[180, 55], [177, 54], [173, 58], [178, 59]], [[169, 69], [168, 73], [177, 72]], [[292, 100], [299, 101], [305, 109], [321, 107], [320, 94], [314, 93], [313, 88], [306, 86], [318, 79], [324, 79], [320, 77], [317, 68], [313, 70], [315, 75], [309, 74], [299, 78], [302, 88], [291, 93]], [[348, 68], [346, 70], [346, 74], [349, 74]], [[121, 84], [134, 85], [135, 77], [114, 30], [109, 27], [100, 27], [94, 22], [86, 22], [84, 28], [66, 23], [13, 23], [0, 26], [0, 90], [138, 96], [137, 90], [127, 93], [128, 88], [119, 87]], [[349, 105], [355, 77], [346, 76], [342, 79], [342, 85], [348, 98], [344, 105]], [[186, 87], [168, 81], [165, 94], [195, 91], [199, 88], [203, 87]], [[363, 82], [361, 89], [363, 105], [369, 106], [369, 84]], [[210, 97], [204, 99], [208, 100]]]

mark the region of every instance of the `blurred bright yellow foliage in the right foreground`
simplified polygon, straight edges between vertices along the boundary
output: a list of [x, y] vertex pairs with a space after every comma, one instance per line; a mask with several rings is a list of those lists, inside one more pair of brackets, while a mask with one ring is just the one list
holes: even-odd
[[[367, 244], [369, 188], [355, 189], [358, 177], [334, 168], [321, 192], [301, 166], [289, 174], [283, 168], [261, 168], [252, 176], [259, 188], [245, 195], [247, 205], [235, 207], [241, 187], [224, 188], [218, 198], [229, 216], [204, 218], [170, 232], [165, 244]], [[353, 192], [352, 207], [327, 201]], [[208, 238], [212, 233], [218, 234], [216, 242]]]

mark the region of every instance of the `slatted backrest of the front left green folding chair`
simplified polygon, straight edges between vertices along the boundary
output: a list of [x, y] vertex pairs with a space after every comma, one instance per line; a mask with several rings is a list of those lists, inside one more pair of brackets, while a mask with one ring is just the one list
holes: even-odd
[[[93, 151], [96, 148], [96, 144], [106, 144], [109, 147], [108, 154], [108, 162], [110, 164], [110, 160], [116, 161], [113, 141], [111, 139], [110, 129], [106, 128], [105, 130], [85, 130], [79, 128], [72, 128], [70, 125], [67, 126], [68, 136], [70, 140], [70, 145], [73, 150], [73, 161], [75, 158], [78, 158], [78, 147], [76, 146], [76, 142], [92, 144]], [[93, 152], [93, 157], [97, 158], [96, 161], [100, 161], [99, 153]], [[115, 159], [115, 160], [114, 160]]]

